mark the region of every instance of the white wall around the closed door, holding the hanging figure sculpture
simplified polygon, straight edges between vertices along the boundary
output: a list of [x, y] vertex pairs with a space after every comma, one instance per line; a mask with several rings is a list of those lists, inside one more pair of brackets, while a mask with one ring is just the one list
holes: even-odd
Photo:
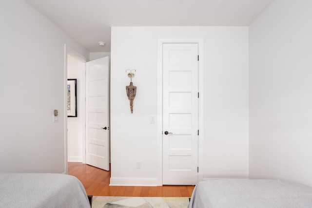
[[[202, 39], [204, 178], [248, 177], [248, 27], [113, 27], [111, 45], [111, 184], [157, 178], [157, 41]], [[126, 69], [136, 69], [133, 114]], [[142, 169], [136, 169], [142, 161]]]

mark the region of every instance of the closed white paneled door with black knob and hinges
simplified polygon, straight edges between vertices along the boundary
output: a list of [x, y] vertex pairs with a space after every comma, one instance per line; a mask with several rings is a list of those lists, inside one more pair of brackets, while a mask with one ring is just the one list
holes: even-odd
[[198, 43], [163, 43], [163, 184], [195, 185]]

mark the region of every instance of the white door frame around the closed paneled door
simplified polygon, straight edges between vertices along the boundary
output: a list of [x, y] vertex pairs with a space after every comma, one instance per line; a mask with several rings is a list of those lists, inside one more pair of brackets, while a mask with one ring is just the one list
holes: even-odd
[[197, 175], [197, 182], [203, 180], [203, 161], [204, 161], [204, 67], [203, 67], [203, 57], [204, 57], [204, 50], [203, 50], [203, 39], [158, 39], [157, 41], [157, 158], [158, 158], [158, 173], [157, 173], [157, 186], [162, 186], [162, 46], [164, 43], [198, 43], [198, 92], [199, 92], [199, 99], [198, 99], [198, 175]]

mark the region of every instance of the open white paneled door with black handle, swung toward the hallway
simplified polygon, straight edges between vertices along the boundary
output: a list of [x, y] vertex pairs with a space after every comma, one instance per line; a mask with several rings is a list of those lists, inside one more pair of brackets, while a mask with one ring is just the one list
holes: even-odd
[[86, 64], [86, 163], [109, 170], [109, 59]]

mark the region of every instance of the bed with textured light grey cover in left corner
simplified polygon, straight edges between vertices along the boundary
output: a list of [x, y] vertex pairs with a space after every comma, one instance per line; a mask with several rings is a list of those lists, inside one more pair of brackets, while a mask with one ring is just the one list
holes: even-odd
[[0, 208], [90, 208], [90, 203], [75, 176], [0, 173]]

